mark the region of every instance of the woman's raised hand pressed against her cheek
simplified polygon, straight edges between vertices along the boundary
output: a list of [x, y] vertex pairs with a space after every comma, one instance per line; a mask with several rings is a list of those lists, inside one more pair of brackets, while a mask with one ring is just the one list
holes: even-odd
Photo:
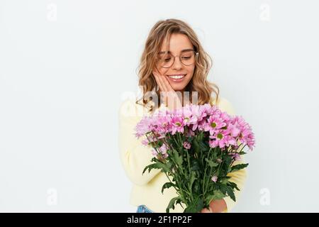
[[155, 77], [157, 85], [159, 86], [159, 92], [161, 92], [161, 94], [164, 95], [164, 104], [170, 110], [181, 108], [182, 107], [181, 99], [179, 99], [179, 96], [174, 91], [171, 84], [169, 84], [167, 78], [164, 75], [161, 75], [155, 71], [153, 71], [153, 75]]

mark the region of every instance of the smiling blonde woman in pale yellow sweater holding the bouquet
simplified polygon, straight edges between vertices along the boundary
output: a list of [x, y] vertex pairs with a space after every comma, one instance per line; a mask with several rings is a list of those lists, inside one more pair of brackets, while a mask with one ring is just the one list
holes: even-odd
[[[196, 33], [184, 21], [167, 19], [158, 21], [151, 29], [142, 52], [139, 67], [139, 85], [142, 97], [123, 101], [119, 111], [119, 148], [121, 162], [133, 183], [130, 204], [138, 206], [137, 212], [165, 212], [170, 199], [177, 196], [174, 187], [162, 185], [167, 177], [159, 170], [142, 175], [150, 165], [152, 152], [135, 138], [134, 128], [143, 115], [154, 114], [159, 109], [177, 109], [186, 104], [217, 105], [228, 114], [235, 114], [233, 106], [219, 97], [219, 89], [207, 81], [211, 69], [211, 57], [203, 50]], [[194, 95], [195, 94], [195, 95]], [[234, 165], [237, 165], [237, 161]], [[246, 178], [246, 170], [230, 173], [240, 191]], [[229, 212], [235, 202], [230, 197], [211, 201], [203, 213]], [[183, 212], [178, 204], [171, 212]]]

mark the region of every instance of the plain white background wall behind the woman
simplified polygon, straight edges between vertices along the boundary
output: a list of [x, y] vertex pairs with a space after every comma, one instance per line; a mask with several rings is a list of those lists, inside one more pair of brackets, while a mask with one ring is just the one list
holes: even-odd
[[129, 212], [118, 106], [179, 18], [257, 146], [233, 212], [319, 211], [318, 1], [0, 0], [0, 211]]

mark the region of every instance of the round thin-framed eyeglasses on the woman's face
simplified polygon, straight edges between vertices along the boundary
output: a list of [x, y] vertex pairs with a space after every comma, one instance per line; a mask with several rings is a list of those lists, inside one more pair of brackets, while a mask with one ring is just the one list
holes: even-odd
[[[175, 57], [179, 57], [179, 61], [186, 66], [193, 65], [198, 57], [198, 52], [195, 50], [188, 50], [182, 52], [181, 55], [176, 55]], [[169, 68], [174, 64], [175, 57], [169, 53], [165, 52], [162, 55], [157, 57], [157, 64], [163, 68]]]

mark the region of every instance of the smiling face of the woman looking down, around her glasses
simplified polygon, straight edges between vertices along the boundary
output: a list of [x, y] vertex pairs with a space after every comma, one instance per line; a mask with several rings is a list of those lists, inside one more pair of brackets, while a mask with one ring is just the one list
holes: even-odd
[[[187, 58], [185, 57], [190, 56], [190, 51], [187, 50], [194, 50], [189, 38], [184, 34], [173, 33], [169, 39], [169, 52], [172, 54], [172, 56], [183, 55], [186, 62]], [[166, 42], [164, 41], [160, 52], [165, 51], [167, 50]], [[159, 56], [162, 55], [163, 54]], [[172, 89], [174, 89], [174, 91], [184, 92], [185, 87], [187, 86], [187, 84], [189, 84], [191, 78], [193, 77], [195, 63], [192, 65], [184, 65], [183, 63], [181, 63], [179, 57], [175, 57], [174, 63], [171, 67], [164, 68], [157, 64], [157, 69], [159, 71], [159, 74], [165, 76], [168, 79], [169, 84], [172, 86]], [[183, 77], [179, 79], [179, 77], [176, 77], [177, 75], [179, 75], [179, 77], [180, 75], [182, 75]]]

